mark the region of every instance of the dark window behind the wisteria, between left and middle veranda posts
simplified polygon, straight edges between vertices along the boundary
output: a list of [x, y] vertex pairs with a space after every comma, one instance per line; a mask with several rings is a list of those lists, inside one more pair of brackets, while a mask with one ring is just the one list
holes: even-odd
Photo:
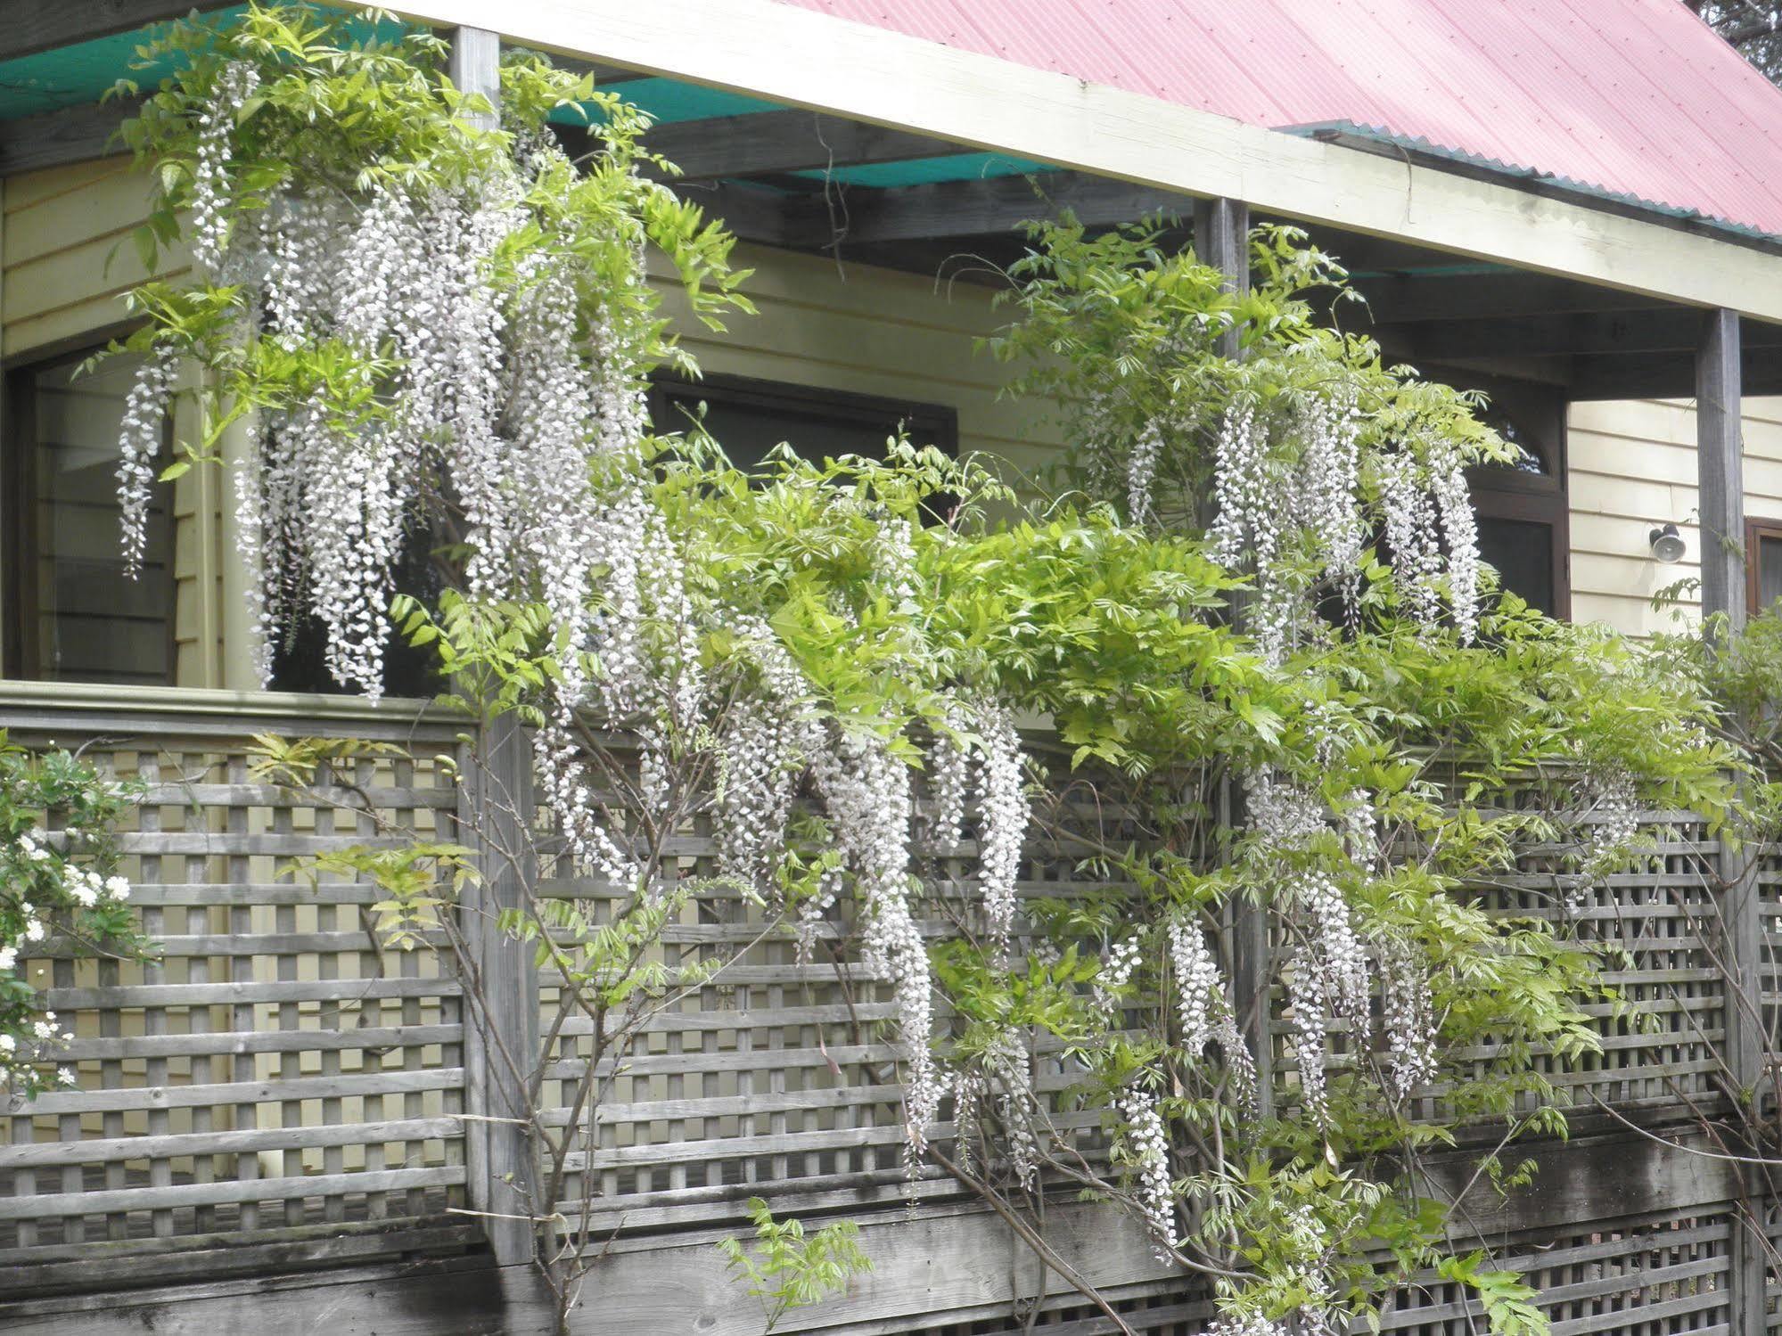
[[912, 445], [959, 452], [952, 408], [741, 376], [658, 379], [650, 387], [650, 426], [663, 435], [686, 431], [700, 404], [706, 431], [743, 472], [754, 472], [779, 444], [813, 463], [839, 454], [882, 460], [886, 440], [900, 428]]

